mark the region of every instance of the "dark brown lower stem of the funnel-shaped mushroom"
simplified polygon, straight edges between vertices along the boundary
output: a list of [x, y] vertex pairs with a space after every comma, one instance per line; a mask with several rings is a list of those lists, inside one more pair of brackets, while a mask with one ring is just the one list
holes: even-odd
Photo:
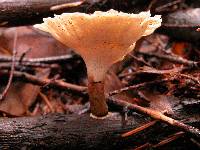
[[106, 116], [108, 106], [104, 94], [104, 81], [95, 82], [92, 77], [88, 77], [88, 93], [92, 115], [97, 118]]

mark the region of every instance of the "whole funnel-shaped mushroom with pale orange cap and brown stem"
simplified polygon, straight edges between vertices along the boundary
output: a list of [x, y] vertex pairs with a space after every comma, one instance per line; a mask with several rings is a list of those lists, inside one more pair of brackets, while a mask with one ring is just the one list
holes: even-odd
[[160, 17], [151, 17], [150, 12], [127, 14], [111, 9], [93, 14], [63, 13], [44, 18], [44, 23], [34, 27], [49, 32], [82, 56], [88, 73], [91, 114], [102, 118], [108, 114], [104, 95], [106, 72], [133, 50], [137, 40], [161, 25]]

